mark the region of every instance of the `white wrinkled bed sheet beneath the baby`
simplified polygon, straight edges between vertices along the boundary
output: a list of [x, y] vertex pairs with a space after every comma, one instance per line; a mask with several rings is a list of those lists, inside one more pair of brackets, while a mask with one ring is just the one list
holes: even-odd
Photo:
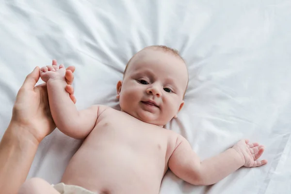
[[[185, 107], [168, 129], [205, 159], [242, 138], [269, 161], [193, 186], [168, 172], [161, 194], [291, 193], [290, 0], [0, 0], [0, 137], [25, 76], [55, 58], [75, 65], [77, 107], [118, 108], [115, 84], [149, 45], [176, 48], [189, 68]], [[54, 184], [80, 142], [55, 130], [29, 173]]]

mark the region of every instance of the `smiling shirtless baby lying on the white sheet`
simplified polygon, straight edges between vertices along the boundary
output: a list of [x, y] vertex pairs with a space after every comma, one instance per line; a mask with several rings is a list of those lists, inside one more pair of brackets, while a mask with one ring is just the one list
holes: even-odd
[[104, 105], [78, 111], [65, 91], [65, 67], [44, 66], [40, 73], [56, 126], [84, 141], [61, 183], [32, 178], [20, 194], [159, 194], [168, 169], [191, 184], [211, 185], [242, 166], [267, 163], [257, 161], [264, 147], [248, 140], [201, 162], [184, 137], [162, 128], [183, 107], [188, 84], [174, 49], [150, 46], [129, 60], [116, 86], [121, 111]]

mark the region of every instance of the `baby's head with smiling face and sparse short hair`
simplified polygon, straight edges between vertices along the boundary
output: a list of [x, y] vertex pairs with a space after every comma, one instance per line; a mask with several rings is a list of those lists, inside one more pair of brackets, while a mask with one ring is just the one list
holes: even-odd
[[163, 126], [182, 108], [187, 87], [185, 63], [160, 48], [134, 56], [117, 84], [121, 110], [146, 123]]

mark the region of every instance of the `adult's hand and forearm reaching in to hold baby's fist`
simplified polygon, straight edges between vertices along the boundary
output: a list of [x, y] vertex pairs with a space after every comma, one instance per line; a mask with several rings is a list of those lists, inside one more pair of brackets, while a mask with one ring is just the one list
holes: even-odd
[[[52, 62], [56, 65], [56, 61]], [[66, 69], [65, 80], [71, 84], [75, 67]], [[39, 67], [26, 77], [13, 107], [12, 119], [0, 141], [0, 191], [16, 194], [25, 181], [40, 141], [55, 128], [49, 112], [46, 83], [35, 86]], [[73, 102], [74, 90], [66, 86]]]

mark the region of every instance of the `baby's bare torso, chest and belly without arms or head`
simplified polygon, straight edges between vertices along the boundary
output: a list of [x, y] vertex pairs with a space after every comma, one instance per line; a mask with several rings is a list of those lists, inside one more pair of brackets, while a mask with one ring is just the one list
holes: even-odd
[[95, 128], [62, 182], [96, 193], [158, 194], [178, 134], [112, 108], [99, 107], [98, 112]]

